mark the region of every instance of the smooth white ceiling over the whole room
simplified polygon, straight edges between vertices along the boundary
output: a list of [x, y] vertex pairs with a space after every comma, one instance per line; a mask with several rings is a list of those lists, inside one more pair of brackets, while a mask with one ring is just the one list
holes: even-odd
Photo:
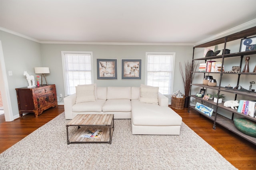
[[256, 0], [0, 0], [0, 27], [39, 42], [196, 43], [256, 19]]

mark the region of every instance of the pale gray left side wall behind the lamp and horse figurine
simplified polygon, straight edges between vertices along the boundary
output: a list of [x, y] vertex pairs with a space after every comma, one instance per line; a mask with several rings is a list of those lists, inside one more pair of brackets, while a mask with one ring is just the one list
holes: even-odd
[[34, 67], [41, 66], [40, 43], [0, 31], [0, 40], [4, 53], [6, 73], [12, 71], [12, 76], [7, 75], [10, 99], [14, 118], [19, 115], [18, 102], [15, 88], [27, 87], [28, 81], [23, 75], [27, 71], [35, 75]]

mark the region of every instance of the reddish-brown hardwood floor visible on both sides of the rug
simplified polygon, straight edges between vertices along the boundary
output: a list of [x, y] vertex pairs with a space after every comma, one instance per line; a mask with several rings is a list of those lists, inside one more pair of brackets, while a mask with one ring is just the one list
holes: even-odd
[[[24, 115], [21, 119], [4, 122], [0, 115], [0, 153], [11, 147], [28, 134], [52, 120], [64, 111], [63, 106], [48, 109], [35, 118], [33, 114]], [[226, 160], [239, 170], [253, 170], [256, 167], [256, 146], [229, 130], [217, 125], [197, 112], [187, 109], [175, 110], [182, 121], [216, 149]], [[188, 141], [189, 142], [189, 141]], [[218, 162], [216, 162], [217, 164]]]

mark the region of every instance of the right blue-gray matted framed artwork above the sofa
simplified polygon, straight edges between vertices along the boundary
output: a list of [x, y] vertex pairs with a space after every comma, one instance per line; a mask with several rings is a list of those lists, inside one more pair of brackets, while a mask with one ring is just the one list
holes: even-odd
[[122, 79], [141, 79], [142, 59], [121, 59]]

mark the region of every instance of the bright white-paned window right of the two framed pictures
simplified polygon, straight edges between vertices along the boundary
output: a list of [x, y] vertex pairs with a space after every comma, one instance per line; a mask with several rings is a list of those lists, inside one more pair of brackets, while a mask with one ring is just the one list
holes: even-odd
[[171, 95], [175, 53], [146, 53], [146, 85], [159, 87], [163, 95]]

